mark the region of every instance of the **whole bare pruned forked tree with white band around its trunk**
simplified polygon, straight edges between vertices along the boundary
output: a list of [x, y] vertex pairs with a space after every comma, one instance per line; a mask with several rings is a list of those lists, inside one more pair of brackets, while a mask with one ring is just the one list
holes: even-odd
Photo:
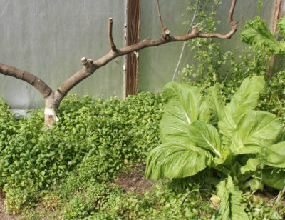
[[[183, 36], [170, 36], [170, 32], [165, 26], [162, 24], [160, 8], [157, 0], [157, 11], [160, 17], [160, 24], [162, 25], [162, 29], [164, 34], [160, 39], [145, 39], [143, 41], [138, 42], [137, 44], [133, 44], [130, 46], [125, 46], [120, 49], [116, 49], [116, 46], [113, 42], [112, 36], [112, 27], [113, 27], [113, 19], [109, 19], [109, 28], [108, 28], [108, 39], [110, 44], [110, 51], [105, 56], [102, 56], [100, 59], [92, 61], [92, 59], [86, 59], [83, 57], [81, 59], [81, 63], [83, 64], [83, 68], [76, 72], [73, 76], [67, 79], [63, 84], [56, 90], [52, 91], [51, 88], [44, 83], [41, 79], [30, 74], [21, 69], [16, 69], [12, 66], [7, 66], [5, 64], [0, 64], [0, 73], [8, 76], [13, 76], [17, 79], [21, 79], [23, 81], [28, 82], [34, 86], [41, 93], [43, 98], [46, 101], [46, 111], [45, 111], [45, 124], [52, 127], [52, 122], [56, 120], [56, 111], [58, 109], [59, 104], [61, 103], [64, 96], [68, 94], [74, 86], [76, 86], [83, 79], [86, 79], [88, 76], [92, 75], [97, 69], [102, 66], [108, 64], [111, 60], [115, 59], [118, 56], [123, 56], [125, 54], [130, 54], [134, 51], [139, 51], [140, 49], [144, 49], [150, 46], [160, 46], [162, 44], [177, 42], [177, 41], [187, 41], [196, 37], [201, 38], [219, 38], [219, 39], [230, 39], [232, 35], [237, 31], [237, 23], [233, 20], [234, 9], [236, 6], [237, 0], [232, 0], [232, 6], [229, 10], [229, 25], [231, 26], [231, 30], [227, 34], [219, 34], [219, 33], [199, 33], [196, 26], [192, 27], [192, 32], [190, 34], [186, 34]], [[168, 31], [167, 31], [168, 30]]]

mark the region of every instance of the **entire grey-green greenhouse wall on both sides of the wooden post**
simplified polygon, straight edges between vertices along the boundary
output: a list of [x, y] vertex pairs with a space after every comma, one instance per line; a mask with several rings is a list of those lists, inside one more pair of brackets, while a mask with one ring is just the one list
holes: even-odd
[[[269, 23], [277, 0], [264, 0], [259, 14]], [[184, 21], [193, 14], [186, 8], [189, 0], [160, 0], [162, 20], [172, 35], [184, 35]], [[223, 0], [217, 8], [221, 20], [218, 31], [230, 29], [227, 17], [232, 1]], [[222, 42], [223, 50], [237, 48], [240, 29], [257, 13], [258, 0], [238, 0], [234, 19], [241, 19], [239, 31]], [[113, 17], [113, 38], [118, 48], [125, 46], [127, 0], [0, 0], [0, 62], [35, 74], [57, 89], [63, 81], [82, 68], [81, 57], [98, 59], [110, 50], [108, 18]], [[283, 9], [282, 9], [283, 10]], [[244, 16], [245, 14], [245, 16]], [[243, 17], [244, 16], [244, 17]], [[194, 22], [195, 24], [195, 22]], [[155, 0], [141, 1], [140, 40], [162, 35]], [[139, 54], [138, 91], [161, 91], [172, 77], [182, 49], [182, 42], [142, 49]], [[180, 70], [192, 64], [193, 52], [185, 49]], [[74, 87], [70, 93], [83, 96], [120, 96], [125, 92], [125, 57], [121, 56]], [[175, 80], [179, 81], [177, 75]], [[0, 74], [0, 97], [14, 109], [41, 108], [43, 98], [33, 86]]]

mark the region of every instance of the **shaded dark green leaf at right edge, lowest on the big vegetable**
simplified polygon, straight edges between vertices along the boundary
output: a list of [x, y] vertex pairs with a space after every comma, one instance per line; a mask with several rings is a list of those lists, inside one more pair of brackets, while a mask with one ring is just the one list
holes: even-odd
[[262, 170], [262, 181], [274, 189], [283, 189], [285, 186], [285, 171], [265, 168]]

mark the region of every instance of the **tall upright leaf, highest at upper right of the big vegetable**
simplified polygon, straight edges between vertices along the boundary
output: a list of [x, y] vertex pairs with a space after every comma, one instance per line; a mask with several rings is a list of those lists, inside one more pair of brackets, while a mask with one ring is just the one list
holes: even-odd
[[264, 87], [264, 77], [247, 77], [242, 81], [239, 90], [234, 94], [232, 100], [224, 108], [224, 117], [219, 121], [220, 132], [224, 135], [224, 144], [231, 144], [231, 138], [237, 129], [240, 119], [247, 111], [257, 106], [259, 92]]

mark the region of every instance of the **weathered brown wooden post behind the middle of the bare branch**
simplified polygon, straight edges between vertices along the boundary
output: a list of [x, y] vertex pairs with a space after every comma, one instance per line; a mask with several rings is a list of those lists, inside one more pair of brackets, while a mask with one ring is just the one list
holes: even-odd
[[[128, 0], [127, 3], [127, 46], [140, 41], [141, 0]], [[138, 52], [126, 55], [125, 97], [138, 94]]]

